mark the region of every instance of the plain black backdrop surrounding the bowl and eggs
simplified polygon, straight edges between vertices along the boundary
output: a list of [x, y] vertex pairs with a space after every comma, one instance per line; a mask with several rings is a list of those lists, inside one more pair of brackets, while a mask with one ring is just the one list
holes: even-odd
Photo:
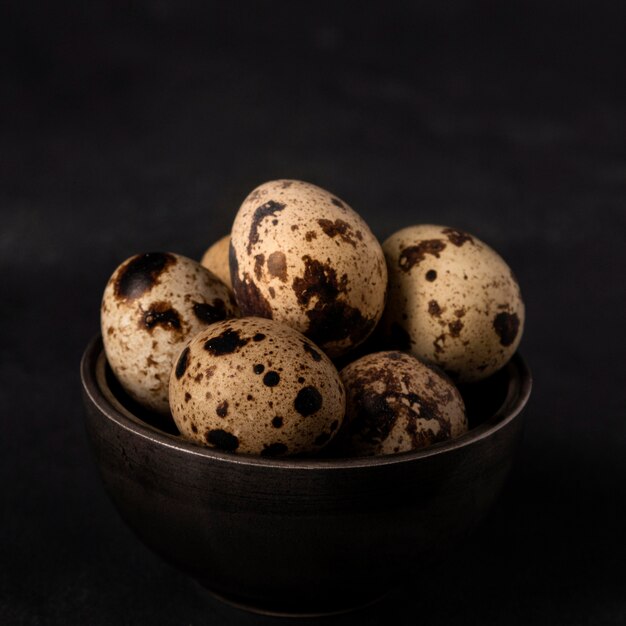
[[425, 587], [308, 623], [626, 623], [623, 3], [3, 6], [0, 623], [274, 623], [124, 526], [78, 362], [119, 262], [199, 258], [278, 177], [381, 239], [434, 222], [495, 247], [535, 378], [481, 531]]

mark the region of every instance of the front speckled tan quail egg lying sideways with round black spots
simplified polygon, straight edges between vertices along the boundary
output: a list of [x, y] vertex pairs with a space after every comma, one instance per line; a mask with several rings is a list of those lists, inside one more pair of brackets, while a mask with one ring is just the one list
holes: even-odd
[[298, 331], [247, 317], [214, 324], [182, 351], [170, 377], [180, 433], [229, 452], [317, 452], [334, 437], [345, 392], [330, 359]]

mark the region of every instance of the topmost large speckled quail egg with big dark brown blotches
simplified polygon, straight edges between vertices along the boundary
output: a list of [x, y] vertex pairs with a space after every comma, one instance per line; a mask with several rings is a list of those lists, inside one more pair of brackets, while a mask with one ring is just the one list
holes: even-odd
[[343, 200], [310, 183], [271, 181], [245, 199], [230, 273], [244, 315], [288, 324], [333, 357], [364, 341], [384, 309], [376, 237]]

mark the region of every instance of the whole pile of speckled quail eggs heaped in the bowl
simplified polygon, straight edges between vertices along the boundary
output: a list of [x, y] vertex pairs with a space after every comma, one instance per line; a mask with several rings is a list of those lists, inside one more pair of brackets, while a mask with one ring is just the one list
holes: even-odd
[[515, 276], [477, 237], [422, 224], [381, 246], [344, 200], [296, 180], [254, 189], [201, 262], [127, 259], [101, 307], [131, 398], [199, 445], [271, 457], [462, 435], [456, 383], [501, 369], [523, 326]]

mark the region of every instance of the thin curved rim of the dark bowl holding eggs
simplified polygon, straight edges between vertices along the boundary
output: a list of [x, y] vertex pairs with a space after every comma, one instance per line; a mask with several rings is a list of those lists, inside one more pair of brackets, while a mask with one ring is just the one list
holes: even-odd
[[[422, 450], [411, 450], [398, 454], [380, 456], [364, 456], [354, 458], [276, 458], [255, 455], [233, 454], [216, 448], [202, 447], [183, 439], [180, 435], [166, 433], [133, 415], [113, 395], [105, 384], [106, 356], [100, 333], [97, 333], [87, 344], [80, 361], [80, 378], [83, 392], [98, 413], [118, 428], [132, 435], [148, 440], [159, 447], [170, 448], [178, 453], [199, 457], [207, 460], [236, 466], [265, 467], [273, 469], [298, 470], [348, 470], [365, 467], [380, 467], [417, 461], [419, 459], [440, 456], [467, 448], [491, 437], [507, 424], [515, 420], [528, 402], [532, 389], [532, 375], [522, 357], [516, 352], [504, 366], [511, 370], [507, 394], [500, 408], [480, 425], [468, 430], [467, 433], [440, 443], [433, 444]], [[104, 387], [104, 388], [103, 388]]]

